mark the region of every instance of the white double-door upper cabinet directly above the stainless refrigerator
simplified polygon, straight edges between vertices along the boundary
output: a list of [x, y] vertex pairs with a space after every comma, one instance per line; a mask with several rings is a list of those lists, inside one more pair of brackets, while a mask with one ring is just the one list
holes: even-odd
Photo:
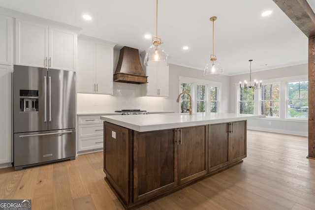
[[15, 64], [75, 70], [77, 34], [16, 19]]

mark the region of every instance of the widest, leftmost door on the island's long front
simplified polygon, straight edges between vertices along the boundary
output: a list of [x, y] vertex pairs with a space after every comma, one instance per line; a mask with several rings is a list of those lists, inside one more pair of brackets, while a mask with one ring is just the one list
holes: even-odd
[[175, 187], [174, 129], [133, 135], [133, 193], [138, 202]]

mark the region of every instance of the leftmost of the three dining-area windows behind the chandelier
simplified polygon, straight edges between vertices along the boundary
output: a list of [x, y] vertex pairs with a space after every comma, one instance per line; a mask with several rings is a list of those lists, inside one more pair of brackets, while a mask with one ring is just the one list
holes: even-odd
[[254, 90], [241, 89], [239, 101], [240, 114], [254, 114]]

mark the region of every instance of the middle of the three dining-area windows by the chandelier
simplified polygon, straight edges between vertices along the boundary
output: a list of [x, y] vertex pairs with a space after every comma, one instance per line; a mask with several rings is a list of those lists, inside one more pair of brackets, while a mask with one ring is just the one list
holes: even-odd
[[280, 84], [261, 86], [261, 114], [267, 117], [279, 118], [280, 114]]

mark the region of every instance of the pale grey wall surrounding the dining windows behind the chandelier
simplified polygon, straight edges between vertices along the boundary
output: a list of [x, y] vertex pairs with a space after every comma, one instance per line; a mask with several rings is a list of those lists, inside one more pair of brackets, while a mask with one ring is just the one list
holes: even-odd
[[[283, 68], [271, 69], [266, 71], [252, 72], [252, 79], [272, 80], [277, 78], [299, 78], [301, 75], [308, 74], [308, 64], [300, 64]], [[230, 111], [236, 113], [237, 95], [235, 84], [240, 81], [249, 81], [250, 74], [242, 74], [230, 77]], [[282, 79], [283, 80], [283, 79]], [[258, 114], [258, 113], [257, 113]], [[248, 128], [254, 130], [270, 131], [277, 133], [286, 133], [293, 135], [308, 136], [308, 120], [286, 120], [284, 116], [281, 119], [257, 119], [248, 120]]]

